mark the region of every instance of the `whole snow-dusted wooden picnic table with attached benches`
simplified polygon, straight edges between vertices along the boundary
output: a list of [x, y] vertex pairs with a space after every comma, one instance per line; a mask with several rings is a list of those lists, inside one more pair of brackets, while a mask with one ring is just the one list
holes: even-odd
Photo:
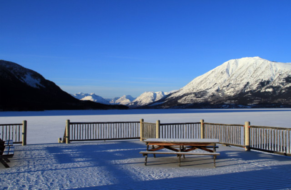
[[[141, 151], [140, 154], [145, 156], [145, 165], [147, 164], [148, 154], [176, 154], [179, 158], [179, 166], [181, 165], [181, 156], [185, 155], [212, 155], [215, 167], [215, 158], [220, 155], [216, 152], [216, 143], [218, 139], [169, 139], [169, 138], [151, 138], [146, 139], [146, 151]], [[150, 148], [152, 145], [152, 148]], [[212, 148], [212, 149], [211, 149]], [[158, 151], [161, 149], [171, 150], [170, 152]], [[195, 149], [204, 150], [202, 152], [193, 152]]]

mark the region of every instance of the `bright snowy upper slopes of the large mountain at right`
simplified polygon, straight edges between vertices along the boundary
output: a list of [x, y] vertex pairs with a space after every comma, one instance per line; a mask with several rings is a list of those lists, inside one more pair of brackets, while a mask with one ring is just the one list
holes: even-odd
[[[255, 92], [257, 92], [257, 99], [263, 96], [262, 93], [265, 93], [267, 98], [266, 92], [269, 95], [270, 93], [278, 95], [281, 91], [287, 92], [291, 88], [290, 82], [290, 63], [269, 61], [260, 57], [232, 59], [194, 78], [163, 101], [175, 101], [175, 104], [183, 105], [223, 102], [229, 97]], [[270, 95], [270, 97], [272, 96]], [[251, 102], [249, 101], [251, 99], [249, 98], [245, 102]], [[260, 100], [252, 101], [252, 103], [256, 102], [260, 102]], [[173, 103], [171, 104], [173, 105]]]

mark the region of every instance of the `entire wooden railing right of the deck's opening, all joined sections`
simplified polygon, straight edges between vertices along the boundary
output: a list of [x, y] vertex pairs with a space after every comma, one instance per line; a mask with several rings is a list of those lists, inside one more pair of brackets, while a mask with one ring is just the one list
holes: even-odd
[[[200, 122], [155, 123], [144, 122], [70, 122], [67, 120], [62, 142], [148, 139], [148, 138], [215, 138], [220, 144], [244, 147], [291, 156], [291, 128], [219, 124]], [[61, 142], [61, 139], [59, 140]]]

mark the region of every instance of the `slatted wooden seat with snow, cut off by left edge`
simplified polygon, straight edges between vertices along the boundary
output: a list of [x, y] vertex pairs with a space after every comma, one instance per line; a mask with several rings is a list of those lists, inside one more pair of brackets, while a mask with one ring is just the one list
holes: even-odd
[[6, 162], [10, 162], [9, 158], [14, 156], [14, 146], [13, 140], [3, 141], [0, 139], [0, 162], [6, 167], [9, 168], [9, 165]]

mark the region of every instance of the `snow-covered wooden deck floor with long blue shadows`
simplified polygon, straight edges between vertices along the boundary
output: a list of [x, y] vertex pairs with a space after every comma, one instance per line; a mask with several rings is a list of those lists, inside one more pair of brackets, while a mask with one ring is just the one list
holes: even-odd
[[16, 146], [0, 189], [288, 189], [291, 158], [219, 146], [210, 156], [149, 156], [140, 141]]

